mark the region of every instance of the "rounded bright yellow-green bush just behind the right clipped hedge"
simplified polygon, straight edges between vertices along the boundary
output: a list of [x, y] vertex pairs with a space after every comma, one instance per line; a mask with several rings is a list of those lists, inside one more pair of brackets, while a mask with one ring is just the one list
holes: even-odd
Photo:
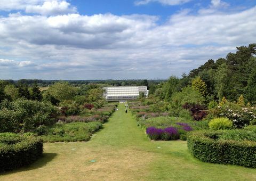
[[215, 118], [209, 122], [209, 128], [218, 130], [218, 129], [232, 129], [233, 122], [228, 118]]

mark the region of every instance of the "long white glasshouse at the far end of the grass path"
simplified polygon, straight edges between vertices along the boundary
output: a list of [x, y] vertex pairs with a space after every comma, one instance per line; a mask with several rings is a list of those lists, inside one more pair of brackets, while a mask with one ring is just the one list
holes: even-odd
[[147, 86], [123, 86], [123, 87], [104, 87], [104, 97], [108, 101], [135, 100], [143, 93], [148, 96]]

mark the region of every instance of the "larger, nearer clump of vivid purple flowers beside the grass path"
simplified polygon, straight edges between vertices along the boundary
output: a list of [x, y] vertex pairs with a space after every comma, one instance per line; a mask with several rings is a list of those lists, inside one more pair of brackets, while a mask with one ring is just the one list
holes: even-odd
[[155, 128], [149, 127], [146, 130], [147, 135], [151, 140], [176, 140], [179, 139], [179, 132], [177, 128]]

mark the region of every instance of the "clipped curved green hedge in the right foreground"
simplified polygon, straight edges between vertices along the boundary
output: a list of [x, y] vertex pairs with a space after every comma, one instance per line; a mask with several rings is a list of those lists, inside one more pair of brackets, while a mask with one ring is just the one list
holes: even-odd
[[188, 135], [188, 149], [204, 162], [256, 168], [256, 142], [221, 138], [228, 133], [229, 130], [192, 132]]

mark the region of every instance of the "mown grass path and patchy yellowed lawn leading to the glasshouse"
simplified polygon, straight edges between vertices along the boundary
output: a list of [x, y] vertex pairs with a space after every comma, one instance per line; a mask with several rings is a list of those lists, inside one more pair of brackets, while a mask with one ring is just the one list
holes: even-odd
[[149, 141], [119, 104], [91, 141], [44, 144], [42, 159], [0, 180], [256, 180], [256, 169], [201, 162], [184, 141]]

